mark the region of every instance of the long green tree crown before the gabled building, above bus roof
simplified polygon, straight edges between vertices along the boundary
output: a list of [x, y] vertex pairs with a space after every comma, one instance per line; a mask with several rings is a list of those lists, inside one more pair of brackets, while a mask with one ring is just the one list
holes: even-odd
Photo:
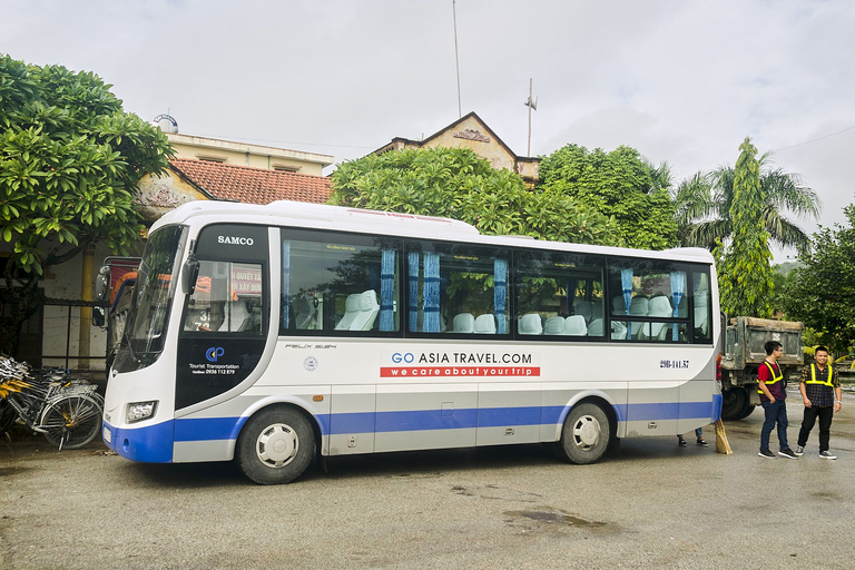
[[341, 164], [333, 204], [460, 219], [490, 235], [619, 245], [616, 224], [558, 193], [529, 190], [466, 148], [410, 149]]

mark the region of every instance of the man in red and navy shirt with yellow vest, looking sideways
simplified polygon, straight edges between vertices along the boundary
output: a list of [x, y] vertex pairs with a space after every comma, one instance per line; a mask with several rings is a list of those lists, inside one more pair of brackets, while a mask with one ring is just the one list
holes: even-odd
[[789, 449], [787, 443], [787, 391], [784, 389], [784, 372], [778, 365], [778, 358], [784, 355], [784, 347], [777, 341], [769, 341], [764, 346], [766, 348], [766, 360], [757, 370], [757, 381], [760, 389], [760, 404], [766, 414], [760, 430], [760, 453], [761, 458], [775, 459], [775, 454], [769, 450], [769, 435], [775, 424], [778, 424], [778, 445], [780, 451], [778, 455], [787, 459], [798, 459], [798, 455]]

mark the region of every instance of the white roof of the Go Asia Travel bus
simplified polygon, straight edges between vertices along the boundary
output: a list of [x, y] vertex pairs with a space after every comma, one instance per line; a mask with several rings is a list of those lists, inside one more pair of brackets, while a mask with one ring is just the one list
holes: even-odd
[[478, 228], [470, 224], [451, 218], [289, 200], [277, 200], [266, 206], [229, 202], [191, 202], [164, 215], [151, 226], [151, 232], [166, 225], [207, 225], [210, 223], [264, 224], [271, 226], [303, 227], [354, 232], [360, 234], [465, 242], [513, 248], [524, 247], [528, 249], [552, 249], [712, 264], [712, 255], [707, 249], [700, 247], [649, 250], [564, 242], [548, 242], [530, 238], [529, 236], [488, 236], [480, 234]]

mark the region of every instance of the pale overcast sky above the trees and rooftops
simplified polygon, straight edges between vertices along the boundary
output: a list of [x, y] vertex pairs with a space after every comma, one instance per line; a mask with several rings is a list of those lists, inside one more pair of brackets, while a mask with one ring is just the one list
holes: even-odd
[[[94, 71], [188, 135], [340, 163], [460, 116], [452, 0], [0, 0], [0, 52]], [[733, 165], [749, 136], [832, 225], [855, 202], [854, 30], [849, 0], [458, 0], [462, 112], [525, 155], [533, 78], [532, 155], [626, 145], [678, 180]]]

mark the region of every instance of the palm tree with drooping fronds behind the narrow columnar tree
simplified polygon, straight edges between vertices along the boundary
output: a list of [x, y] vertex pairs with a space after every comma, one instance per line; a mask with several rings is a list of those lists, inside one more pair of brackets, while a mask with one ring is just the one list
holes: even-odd
[[[785, 218], [783, 212], [798, 217], [819, 217], [822, 206], [816, 193], [802, 184], [797, 174], [783, 168], [764, 169], [772, 153], [760, 159], [760, 187], [766, 196], [763, 212], [769, 240], [780, 247], [803, 249], [809, 244], [804, 229]], [[733, 233], [730, 206], [734, 202], [734, 167], [720, 166], [708, 174], [696, 174], [672, 191], [677, 206], [680, 245], [712, 249], [716, 239], [725, 240]]]

